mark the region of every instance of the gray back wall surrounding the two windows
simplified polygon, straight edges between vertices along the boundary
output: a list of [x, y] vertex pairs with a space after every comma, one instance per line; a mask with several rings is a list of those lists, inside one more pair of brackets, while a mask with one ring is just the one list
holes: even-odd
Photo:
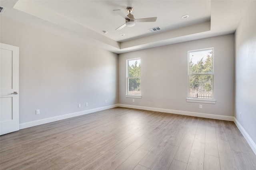
[[[188, 51], [214, 47], [216, 104], [186, 102]], [[126, 98], [126, 60], [141, 58], [141, 99]], [[234, 116], [234, 34], [119, 55], [119, 104]]]

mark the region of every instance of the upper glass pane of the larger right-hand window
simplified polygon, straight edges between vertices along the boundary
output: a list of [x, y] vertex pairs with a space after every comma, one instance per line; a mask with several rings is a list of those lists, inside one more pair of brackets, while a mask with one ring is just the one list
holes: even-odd
[[189, 74], [212, 74], [212, 50], [189, 52]]

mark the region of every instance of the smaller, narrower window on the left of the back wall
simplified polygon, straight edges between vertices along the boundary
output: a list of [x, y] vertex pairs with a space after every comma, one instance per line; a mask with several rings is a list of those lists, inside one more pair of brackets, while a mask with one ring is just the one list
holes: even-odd
[[127, 97], [140, 96], [140, 58], [127, 60]]

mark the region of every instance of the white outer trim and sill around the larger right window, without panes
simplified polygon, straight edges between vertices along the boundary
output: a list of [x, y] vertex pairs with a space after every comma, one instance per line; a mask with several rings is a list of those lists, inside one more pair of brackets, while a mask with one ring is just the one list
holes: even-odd
[[[212, 80], [213, 80], [213, 84], [212, 84], [212, 99], [196, 99], [196, 98], [189, 98], [189, 64], [188, 64], [188, 98], [186, 99], [187, 102], [195, 102], [195, 103], [209, 103], [209, 104], [215, 104], [216, 100], [214, 98], [214, 47], [212, 48], [206, 48], [206, 49], [198, 49], [198, 50], [190, 50], [188, 51], [188, 63], [189, 63], [189, 53], [190, 52], [197, 52], [197, 51], [204, 51], [204, 50], [209, 50], [212, 49], [212, 53], [213, 53], [213, 59], [212, 59]], [[201, 75], [201, 74], [200, 74]]]

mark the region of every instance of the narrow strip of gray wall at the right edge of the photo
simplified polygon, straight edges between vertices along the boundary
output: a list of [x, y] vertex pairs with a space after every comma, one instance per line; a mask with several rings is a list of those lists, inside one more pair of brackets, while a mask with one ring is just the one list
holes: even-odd
[[[256, 143], [256, 1], [248, 10], [235, 33], [236, 102], [235, 117]], [[241, 118], [240, 118], [241, 113]]]

